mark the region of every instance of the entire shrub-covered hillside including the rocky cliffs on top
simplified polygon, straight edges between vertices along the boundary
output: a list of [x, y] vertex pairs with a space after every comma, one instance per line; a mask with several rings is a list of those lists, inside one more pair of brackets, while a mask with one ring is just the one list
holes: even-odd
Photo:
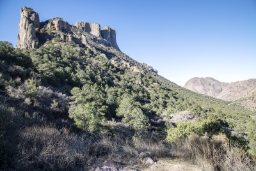
[[241, 165], [255, 166], [245, 155], [256, 155], [253, 112], [161, 77], [121, 52], [111, 27], [40, 22], [27, 7], [20, 15], [17, 47], [0, 41], [1, 169], [89, 170], [104, 160], [145, 167], [145, 158], [179, 157], [223, 170], [234, 144]]

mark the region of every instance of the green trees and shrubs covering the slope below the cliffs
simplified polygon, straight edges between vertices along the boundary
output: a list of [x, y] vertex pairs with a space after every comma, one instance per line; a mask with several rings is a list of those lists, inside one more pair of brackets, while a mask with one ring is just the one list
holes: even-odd
[[[227, 101], [193, 93], [148, 71], [117, 50], [111, 48], [110, 51], [104, 47], [81, 47], [58, 37], [47, 40], [38, 49], [29, 50], [13, 48], [11, 43], [0, 41], [0, 165], [3, 169], [12, 168], [12, 162], [24, 160], [20, 155], [29, 150], [29, 145], [40, 144], [33, 144], [31, 139], [28, 140], [31, 144], [24, 142], [26, 136], [29, 138], [26, 135], [29, 126], [39, 132], [46, 131], [47, 126], [52, 130], [60, 126], [72, 128], [62, 130], [64, 135], [58, 135], [58, 130], [54, 130], [56, 135], [50, 133], [52, 137], [64, 136], [64, 139], [69, 131], [71, 139], [81, 133], [107, 133], [114, 137], [125, 133], [135, 143], [145, 140], [143, 135], [149, 133], [166, 144], [166, 148], [170, 143], [185, 142], [191, 135], [204, 137], [207, 133], [211, 138], [225, 133], [248, 154], [256, 155], [256, 124], [250, 118], [252, 112], [228, 105]], [[127, 63], [143, 72], [132, 71], [122, 61], [113, 63], [112, 59], [117, 58], [115, 54], [121, 54]], [[170, 123], [171, 114], [184, 110], [198, 115], [199, 120]], [[163, 120], [163, 115], [167, 120]], [[118, 124], [124, 126], [125, 132], [116, 129]], [[12, 136], [19, 138], [12, 141]], [[67, 140], [70, 144], [71, 139]], [[8, 160], [16, 154], [18, 158]], [[31, 161], [30, 157], [26, 160]]]

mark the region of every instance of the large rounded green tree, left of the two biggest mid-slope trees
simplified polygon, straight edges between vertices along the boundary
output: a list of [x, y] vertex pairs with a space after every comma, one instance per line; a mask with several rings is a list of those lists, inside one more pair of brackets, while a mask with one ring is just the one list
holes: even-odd
[[90, 132], [99, 131], [100, 122], [104, 121], [104, 115], [108, 113], [108, 107], [103, 105], [104, 94], [99, 85], [86, 84], [82, 89], [74, 87], [71, 94], [68, 112], [77, 127]]

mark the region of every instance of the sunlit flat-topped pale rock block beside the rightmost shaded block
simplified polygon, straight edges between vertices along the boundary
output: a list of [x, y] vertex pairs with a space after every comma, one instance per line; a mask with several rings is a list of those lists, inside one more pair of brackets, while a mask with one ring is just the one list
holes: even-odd
[[100, 24], [98, 23], [77, 22], [75, 26], [78, 29], [82, 29], [83, 31], [93, 34], [94, 36], [101, 37]]

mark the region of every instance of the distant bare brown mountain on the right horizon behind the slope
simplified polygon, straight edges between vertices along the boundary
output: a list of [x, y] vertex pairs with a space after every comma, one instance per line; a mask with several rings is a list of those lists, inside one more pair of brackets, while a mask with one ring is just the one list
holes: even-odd
[[214, 78], [191, 78], [184, 88], [222, 100], [235, 101], [256, 91], [256, 79], [237, 82], [220, 82]]

